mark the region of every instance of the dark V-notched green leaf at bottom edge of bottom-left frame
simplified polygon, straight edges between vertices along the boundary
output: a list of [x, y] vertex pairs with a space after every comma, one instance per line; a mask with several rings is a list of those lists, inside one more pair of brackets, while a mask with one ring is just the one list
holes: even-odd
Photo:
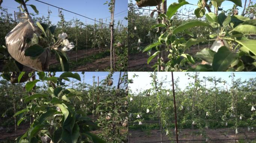
[[80, 136], [79, 126], [76, 123], [74, 124], [72, 133], [64, 129], [61, 134], [62, 140], [65, 143], [76, 143], [79, 136]]

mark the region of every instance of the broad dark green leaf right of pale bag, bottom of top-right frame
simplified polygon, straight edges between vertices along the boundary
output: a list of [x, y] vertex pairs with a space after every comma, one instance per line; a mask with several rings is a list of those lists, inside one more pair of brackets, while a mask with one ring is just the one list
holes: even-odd
[[225, 71], [238, 58], [239, 54], [230, 51], [227, 47], [220, 47], [213, 58], [213, 71]]

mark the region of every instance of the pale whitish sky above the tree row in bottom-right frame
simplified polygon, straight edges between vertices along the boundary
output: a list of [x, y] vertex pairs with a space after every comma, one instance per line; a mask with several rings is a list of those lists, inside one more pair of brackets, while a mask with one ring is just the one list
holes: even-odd
[[[191, 73], [193, 74], [193, 72], [173, 72], [173, 77], [174, 80], [177, 79], [177, 77], [180, 78], [180, 82], [179, 82], [179, 88], [181, 88], [182, 90], [186, 88], [186, 86], [188, 86], [189, 82], [194, 82], [194, 79], [188, 79], [188, 76], [185, 76], [185, 73]], [[229, 78], [229, 76], [231, 75], [232, 72], [199, 72], [199, 78], [202, 79], [203, 76], [205, 77], [216, 77], [216, 78], [222, 78], [223, 80], [226, 80], [227, 83], [229, 85], [231, 85], [231, 78]], [[138, 77], [132, 77], [134, 74], [138, 75]], [[171, 86], [171, 72], [158, 72], [158, 79], [160, 80], [161, 78], [165, 78], [165, 76], [167, 76], [167, 80], [164, 86], [166, 86], [166, 89], [172, 89]], [[132, 90], [132, 92], [136, 92], [136, 90], [138, 89], [143, 91], [146, 89], [150, 89], [152, 88], [152, 86], [150, 85], [150, 82], [152, 82], [152, 78], [149, 77], [150, 76], [150, 72], [129, 72], [128, 74], [128, 78], [129, 79], [133, 79], [134, 83], [129, 84], [129, 89]], [[256, 77], [256, 72], [235, 72], [235, 79], [241, 78], [242, 81], [245, 79], [249, 79], [249, 78], [253, 78]], [[212, 83], [207, 82], [206, 83], [206, 88], [210, 87], [212, 85]], [[219, 84], [219, 87], [223, 87], [226, 88], [226, 85], [224, 86], [223, 84]], [[228, 86], [229, 88], [229, 86]]]

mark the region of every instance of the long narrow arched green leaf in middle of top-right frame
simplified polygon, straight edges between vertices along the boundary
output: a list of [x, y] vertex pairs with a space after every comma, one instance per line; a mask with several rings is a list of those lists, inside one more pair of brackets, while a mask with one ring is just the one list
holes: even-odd
[[184, 24], [178, 26], [177, 28], [175, 28], [173, 30], [173, 34], [177, 34], [178, 32], [181, 32], [185, 29], [189, 29], [189, 28], [192, 28], [192, 27], [195, 27], [195, 26], [210, 26], [210, 25], [208, 23], [205, 23], [205, 22], [201, 22], [201, 21], [198, 21], [198, 20], [193, 20], [193, 21], [184, 23]]

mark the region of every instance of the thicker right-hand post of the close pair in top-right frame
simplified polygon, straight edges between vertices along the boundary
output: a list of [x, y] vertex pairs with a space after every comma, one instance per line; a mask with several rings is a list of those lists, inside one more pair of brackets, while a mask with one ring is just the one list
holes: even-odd
[[[162, 13], [166, 14], [167, 12], [167, 0], [164, 1], [164, 3], [162, 3]], [[162, 24], [165, 24], [165, 18], [162, 19]], [[162, 33], [164, 33], [165, 30], [162, 30]], [[161, 45], [161, 61], [165, 61], [165, 57], [166, 57], [166, 51], [165, 51], [166, 45], [162, 44]], [[165, 66], [161, 65], [161, 70], [164, 71], [165, 70]]]

